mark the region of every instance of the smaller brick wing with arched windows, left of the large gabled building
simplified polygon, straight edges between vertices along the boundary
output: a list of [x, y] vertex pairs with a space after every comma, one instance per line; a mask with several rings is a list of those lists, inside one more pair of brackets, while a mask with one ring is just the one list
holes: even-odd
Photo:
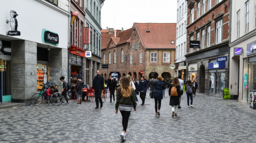
[[[127, 71], [127, 51], [130, 45], [132, 28], [128, 30], [101, 30], [102, 34], [102, 49], [101, 49], [101, 63], [108, 64], [108, 68], [101, 69], [101, 75], [104, 78], [110, 74], [111, 71], [118, 71], [119, 77], [126, 76]], [[115, 33], [114, 33], [115, 31]], [[115, 36], [116, 35], [116, 36]]]

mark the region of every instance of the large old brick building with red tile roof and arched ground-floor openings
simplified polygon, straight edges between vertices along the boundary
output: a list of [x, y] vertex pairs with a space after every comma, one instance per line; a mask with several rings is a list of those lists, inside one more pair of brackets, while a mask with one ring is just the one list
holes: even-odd
[[[174, 76], [176, 23], [134, 23], [128, 52], [128, 74], [135, 78]], [[143, 70], [143, 75], [140, 71]]]

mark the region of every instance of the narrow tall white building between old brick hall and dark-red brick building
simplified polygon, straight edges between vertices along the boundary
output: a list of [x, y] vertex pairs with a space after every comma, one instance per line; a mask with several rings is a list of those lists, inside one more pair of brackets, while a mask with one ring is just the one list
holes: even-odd
[[177, 27], [176, 27], [176, 58], [174, 75], [177, 77], [179, 74], [182, 80], [185, 80], [186, 62], [185, 54], [187, 53], [187, 1], [177, 0]]

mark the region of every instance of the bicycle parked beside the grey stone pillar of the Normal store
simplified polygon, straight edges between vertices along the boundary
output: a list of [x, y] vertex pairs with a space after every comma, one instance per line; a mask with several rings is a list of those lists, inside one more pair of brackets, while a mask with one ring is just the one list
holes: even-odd
[[[45, 92], [46, 90], [49, 88], [49, 86], [47, 85], [43, 85], [43, 88], [40, 89], [39, 93], [35, 93], [31, 99], [30, 99], [30, 103], [34, 106], [39, 105], [44, 98]], [[52, 89], [51, 89], [52, 90]], [[53, 91], [53, 90], [52, 90]], [[61, 104], [63, 97], [62, 94], [59, 92], [55, 92], [53, 94], [51, 94], [50, 97], [46, 97], [46, 100], [48, 101], [48, 104], [52, 103], [53, 105], [59, 105]]]

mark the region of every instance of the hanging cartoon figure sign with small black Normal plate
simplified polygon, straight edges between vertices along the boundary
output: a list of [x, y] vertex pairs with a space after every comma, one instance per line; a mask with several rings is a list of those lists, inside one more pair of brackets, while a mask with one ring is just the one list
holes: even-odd
[[20, 35], [20, 31], [18, 31], [18, 20], [16, 19], [16, 16], [18, 16], [18, 14], [16, 13], [16, 11], [11, 10], [10, 11], [10, 16], [11, 19], [6, 20], [6, 23], [8, 24], [10, 22], [10, 26], [11, 26], [11, 31], [6, 32], [6, 35], [9, 36], [19, 36]]

